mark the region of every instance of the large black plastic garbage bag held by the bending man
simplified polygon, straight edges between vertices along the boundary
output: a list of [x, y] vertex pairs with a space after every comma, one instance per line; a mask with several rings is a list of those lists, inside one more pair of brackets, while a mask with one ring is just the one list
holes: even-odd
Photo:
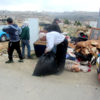
[[43, 54], [33, 72], [33, 76], [44, 76], [50, 75], [57, 72], [57, 65], [55, 60], [55, 54], [53, 52], [49, 52]]

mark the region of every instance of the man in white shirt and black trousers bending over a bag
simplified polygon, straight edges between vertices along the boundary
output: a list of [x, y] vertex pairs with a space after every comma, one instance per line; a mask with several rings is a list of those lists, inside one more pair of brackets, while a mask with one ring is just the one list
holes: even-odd
[[48, 32], [45, 29], [45, 33], [40, 33], [40, 39], [46, 41], [45, 53], [53, 50], [56, 46], [56, 61], [58, 70], [61, 71], [65, 65], [66, 52], [68, 47], [68, 41], [63, 34], [56, 31]]

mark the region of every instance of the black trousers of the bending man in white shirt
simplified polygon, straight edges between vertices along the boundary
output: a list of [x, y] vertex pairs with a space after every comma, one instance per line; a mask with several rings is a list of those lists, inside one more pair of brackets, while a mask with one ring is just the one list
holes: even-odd
[[67, 39], [65, 39], [62, 43], [57, 45], [56, 61], [58, 69], [64, 69], [67, 47], [68, 47]]

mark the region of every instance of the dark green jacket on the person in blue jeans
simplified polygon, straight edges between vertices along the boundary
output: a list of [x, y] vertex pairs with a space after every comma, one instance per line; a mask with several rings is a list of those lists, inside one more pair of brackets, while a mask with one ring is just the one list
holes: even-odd
[[30, 40], [30, 34], [29, 34], [29, 27], [28, 26], [25, 26], [25, 27], [22, 28], [21, 39], [22, 40]]

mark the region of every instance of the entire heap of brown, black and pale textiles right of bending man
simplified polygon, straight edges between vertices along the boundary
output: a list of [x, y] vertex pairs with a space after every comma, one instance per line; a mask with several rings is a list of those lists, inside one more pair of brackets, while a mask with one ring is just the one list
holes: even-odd
[[[65, 69], [74, 72], [89, 72], [96, 64], [100, 54], [100, 40], [78, 42], [74, 48], [68, 48]], [[100, 56], [100, 55], [99, 55]]]

